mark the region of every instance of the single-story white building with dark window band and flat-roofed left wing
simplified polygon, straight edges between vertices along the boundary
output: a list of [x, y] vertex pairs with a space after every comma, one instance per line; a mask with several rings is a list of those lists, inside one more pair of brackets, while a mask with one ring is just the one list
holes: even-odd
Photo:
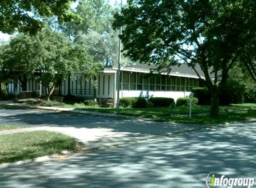
[[[151, 74], [149, 65], [132, 65], [121, 67], [120, 72], [120, 98], [122, 97], [168, 97], [177, 98], [189, 96], [193, 87], [203, 86], [195, 71], [186, 64], [173, 66], [169, 74]], [[204, 74], [199, 66], [196, 66], [198, 74], [202, 79]], [[107, 66], [99, 70], [97, 75], [98, 86], [94, 90], [90, 81], [77, 74], [76, 80], [63, 80], [56, 86], [54, 95], [72, 94], [78, 98], [96, 98], [101, 104], [112, 103], [115, 106], [117, 101], [117, 70], [115, 66]], [[39, 90], [39, 83], [35, 79], [27, 82], [27, 91]], [[13, 93], [13, 83], [9, 84], [8, 92]], [[21, 86], [17, 86], [17, 93], [22, 92]], [[44, 90], [42, 91], [44, 92]]]

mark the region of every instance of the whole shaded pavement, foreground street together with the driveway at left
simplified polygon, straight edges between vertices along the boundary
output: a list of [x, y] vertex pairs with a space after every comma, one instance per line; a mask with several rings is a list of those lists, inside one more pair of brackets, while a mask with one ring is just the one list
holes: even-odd
[[3, 108], [0, 120], [92, 130], [94, 137], [84, 139], [88, 145], [118, 143], [104, 151], [69, 155], [68, 160], [1, 167], [1, 188], [204, 188], [210, 172], [256, 177], [256, 122], [164, 136], [200, 126]]

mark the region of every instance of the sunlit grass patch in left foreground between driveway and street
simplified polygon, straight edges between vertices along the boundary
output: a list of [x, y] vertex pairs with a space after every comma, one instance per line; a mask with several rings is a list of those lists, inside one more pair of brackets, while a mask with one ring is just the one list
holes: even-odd
[[33, 159], [76, 149], [75, 139], [50, 131], [0, 135], [0, 143], [0, 163]]

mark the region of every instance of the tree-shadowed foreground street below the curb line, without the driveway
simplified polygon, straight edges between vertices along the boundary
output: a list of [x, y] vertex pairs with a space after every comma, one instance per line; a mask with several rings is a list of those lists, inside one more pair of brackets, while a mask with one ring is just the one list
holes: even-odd
[[256, 177], [256, 122], [1, 168], [3, 188], [204, 188], [210, 172]]

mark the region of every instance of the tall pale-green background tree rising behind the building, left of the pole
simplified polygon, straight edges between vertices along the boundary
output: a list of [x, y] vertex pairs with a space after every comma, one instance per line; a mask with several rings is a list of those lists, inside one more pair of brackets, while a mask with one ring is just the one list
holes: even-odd
[[[59, 25], [59, 29], [76, 43], [87, 44], [94, 62], [113, 65], [118, 61], [118, 31], [112, 29], [115, 12], [106, 0], [81, 0], [76, 13], [83, 19], [80, 24], [72, 21]], [[129, 64], [128, 58], [122, 58]]]

